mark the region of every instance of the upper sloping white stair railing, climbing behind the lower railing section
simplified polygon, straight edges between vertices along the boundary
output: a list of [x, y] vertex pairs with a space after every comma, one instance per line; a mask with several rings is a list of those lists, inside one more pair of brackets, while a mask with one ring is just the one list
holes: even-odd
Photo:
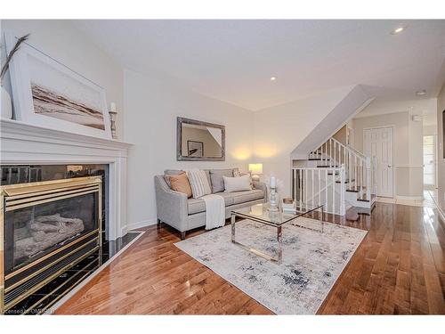
[[351, 146], [329, 138], [326, 143], [309, 154], [309, 159], [316, 159], [320, 167], [338, 167], [344, 165], [349, 191], [356, 191], [361, 199], [371, 200], [375, 193], [374, 168], [371, 159]]

